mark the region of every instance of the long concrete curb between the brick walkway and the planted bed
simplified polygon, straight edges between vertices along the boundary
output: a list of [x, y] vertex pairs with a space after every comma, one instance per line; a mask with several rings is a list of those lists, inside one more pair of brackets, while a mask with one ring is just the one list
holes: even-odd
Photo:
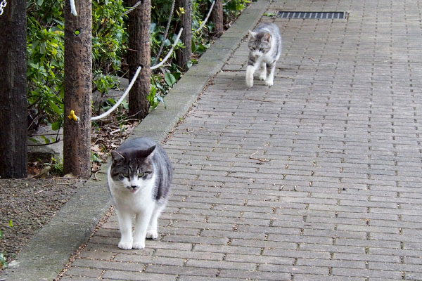
[[[269, 1], [257, 1], [243, 11], [234, 25], [193, 65], [166, 96], [167, 109], [160, 105], [136, 128], [131, 138], [149, 136], [161, 142], [198, 99], [208, 81], [215, 76], [241, 43], [248, 30], [259, 22]], [[69, 257], [89, 240], [111, 201], [103, 165], [96, 179], [89, 179], [65, 206], [41, 228], [0, 275], [5, 280], [54, 280]]]

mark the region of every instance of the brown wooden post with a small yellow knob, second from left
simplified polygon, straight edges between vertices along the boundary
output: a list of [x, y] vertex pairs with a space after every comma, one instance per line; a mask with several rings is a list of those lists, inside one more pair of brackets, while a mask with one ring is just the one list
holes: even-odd
[[[91, 174], [92, 6], [75, 1], [77, 16], [65, 0], [65, 122], [63, 170], [89, 178]], [[74, 110], [78, 121], [69, 119]]]

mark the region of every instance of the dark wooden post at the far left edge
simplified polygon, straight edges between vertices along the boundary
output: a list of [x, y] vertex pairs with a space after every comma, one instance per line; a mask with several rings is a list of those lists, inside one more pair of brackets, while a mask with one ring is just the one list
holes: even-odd
[[[2, 0], [0, 0], [1, 4]], [[0, 15], [0, 177], [27, 176], [26, 1]]]

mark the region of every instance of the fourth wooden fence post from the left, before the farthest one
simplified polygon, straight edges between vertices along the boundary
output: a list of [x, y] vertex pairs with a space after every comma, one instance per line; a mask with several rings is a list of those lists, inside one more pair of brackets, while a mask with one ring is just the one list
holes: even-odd
[[[191, 60], [192, 56], [192, 0], [177, 0], [178, 8], [184, 8], [185, 13], [181, 15], [181, 41], [185, 48], [177, 50], [177, 65], [186, 69], [186, 63]], [[178, 31], [179, 32], [179, 31]]]

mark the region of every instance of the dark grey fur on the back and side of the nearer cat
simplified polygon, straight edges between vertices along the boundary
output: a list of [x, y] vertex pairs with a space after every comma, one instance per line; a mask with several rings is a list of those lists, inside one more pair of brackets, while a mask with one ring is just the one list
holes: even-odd
[[170, 195], [170, 185], [172, 181], [172, 163], [162, 146], [151, 138], [141, 137], [125, 141], [116, 151], [147, 150], [153, 146], [155, 146], [155, 150], [152, 160], [155, 169], [154, 173], [156, 175], [153, 198], [157, 202], [162, 202], [163, 200], [167, 200], [167, 197]]

